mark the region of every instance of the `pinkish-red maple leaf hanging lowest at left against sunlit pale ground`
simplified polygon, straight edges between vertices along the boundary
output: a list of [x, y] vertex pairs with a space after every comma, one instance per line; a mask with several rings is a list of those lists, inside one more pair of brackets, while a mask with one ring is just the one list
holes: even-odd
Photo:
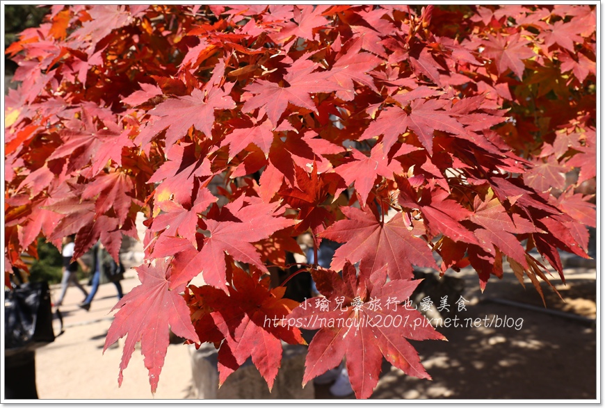
[[154, 393], [158, 386], [159, 375], [164, 365], [170, 331], [191, 341], [200, 341], [191, 324], [189, 309], [180, 286], [170, 289], [170, 263], [165, 259], [156, 259], [154, 264], [147, 263], [136, 268], [140, 285], [133, 288], [112, 311], [115, 318], [107, 332], [103, 352], [126, 337], [118, 384], [122, 384], [122, 371], [130, 361], [136, 343], [145, 356], [145, 367], [149, 370], [149, 380]]

